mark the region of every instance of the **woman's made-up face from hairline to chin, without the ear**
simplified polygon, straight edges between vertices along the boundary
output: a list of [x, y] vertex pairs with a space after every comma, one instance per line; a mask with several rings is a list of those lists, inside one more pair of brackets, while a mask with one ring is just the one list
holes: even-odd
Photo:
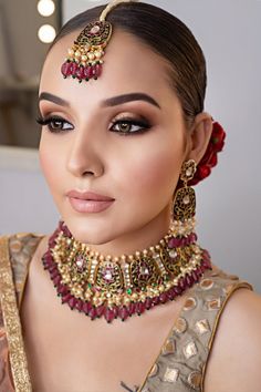
[[[63, 79], [61, 65], [75, 37], [56, 43], [43, 66], [41, 116], [62, 118], [42, 130], [44, 176], [75, 238], [97, 250], [148, 246], [168, 229], [187, 154], [180, 103], [163, 59], [125, 32], [111, 39], [97, 81]], [[73, 189], [113, 202], [79, 202], [67, 196]]]

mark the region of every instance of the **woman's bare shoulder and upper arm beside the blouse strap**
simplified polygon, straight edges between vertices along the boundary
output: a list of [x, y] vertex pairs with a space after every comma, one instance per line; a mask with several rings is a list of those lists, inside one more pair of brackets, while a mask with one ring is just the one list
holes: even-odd
[[205, 392], [261, 390], [261, 296], [239, 289], [220, 318], [207, 364]]

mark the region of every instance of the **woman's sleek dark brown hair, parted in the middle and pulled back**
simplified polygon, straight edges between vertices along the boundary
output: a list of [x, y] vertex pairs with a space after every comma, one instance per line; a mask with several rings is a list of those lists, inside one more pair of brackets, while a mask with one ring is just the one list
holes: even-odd
[[[95, 7], [63, 25], [53, 44], [98, 19], [106, 6]], [[169, 12], [143, 2], [119, 3], [106, 18], [114, 29], [145, 42], [170, 64], [170, 83], [177, 93], [187, 125], [203, 111], [207, 85], [206, 61], [191, 31]], [[52, 44], [52, 45], [53, 45]]]

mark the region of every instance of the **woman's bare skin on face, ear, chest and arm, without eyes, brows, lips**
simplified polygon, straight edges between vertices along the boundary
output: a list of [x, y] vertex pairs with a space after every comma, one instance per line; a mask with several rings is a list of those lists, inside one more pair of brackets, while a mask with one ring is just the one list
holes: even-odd
[[[45, 96], [40, 102], [40, 112], [43, 116], [62, 116], [73, 130], [54, 134], [46, 126], [43, 128], [41, 166], [56, 207], [75, 238], [103, 254], [133, 252], [156, 244], [167, 233], [181, 164], [202, 157], [211, 134], [211, 117], [200, 113], [187, 130], [180, 102], [169, 87], [164, 60], [136, 38], [119, 31], [106, 49], [98, 81], [79, 84], [64, 80], [60, 66], [76, 33], [55, 44], [43, 66], [40, 94], [54, 94], [69, 105], [50, 102]], [[148, 94], [160, 109], [142, 100], [116, 106], [102, 104], [134, 92]], [[140, 115], [152, 123], [150, 130], [128, 136], [111, 131], [115, 120]], [[115, 202], [103, 213], [79, 214], [65, 196], [75, 188], [111, 196]], [[92, 322], [56, 300], [41, 266], [46, 248], [44, 237], [30, 264], [21, 309], [34, 389], [136, 391], [178, 317], [185, 296], [124, 323]], [[221, 318], [207, 368], [207, 392], [249, 391], [246, 381], [242, 383], [247, 359], [250, 363], [261, 360], [260, 332], [255, 327], [261, 322], [260, 299], [247, 290], [240, 291], [231, 298]], [[251, 331], [255, 343], [251, 351], [249, 340], [241, 339], [246, 330]], [[248, 369], [248, 381], [253, 382], [250, 390], [258, 391], [260, 376], [253, 368]], [[237, 376], [230, 376], [231, 369]]]

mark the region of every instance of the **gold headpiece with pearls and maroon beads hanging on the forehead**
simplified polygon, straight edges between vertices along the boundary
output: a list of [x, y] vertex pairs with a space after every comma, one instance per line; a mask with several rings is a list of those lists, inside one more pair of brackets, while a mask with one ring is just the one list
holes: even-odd
[[101, 75], [104, 50], [113, 32], [112, 24], [105, 18], [119, 3], [134, 1], [138, 0], [111, 1], [101, 13], [100, 19], [90, 22], [81, 31], [62, 64], [61, 71], [64, 78], [72, 76], [82, 82], [83, 80], [97, 79]]

